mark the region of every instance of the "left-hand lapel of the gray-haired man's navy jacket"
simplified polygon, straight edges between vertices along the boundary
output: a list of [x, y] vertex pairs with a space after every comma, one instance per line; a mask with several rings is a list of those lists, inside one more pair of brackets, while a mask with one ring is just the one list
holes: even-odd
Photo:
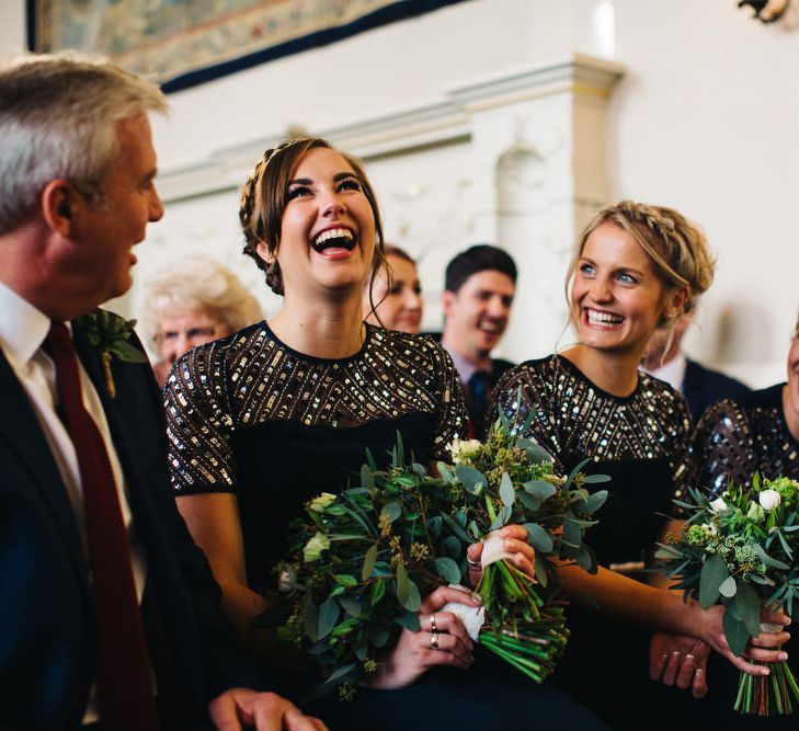
[[27, 392], [2, 351], [0, 351], [0, 398], [3, 412], [7, 414], [5, 419], [0, 420], [0, 436], [16, 454], [23, 469], [31, 475], [58, 526], [80, 581], [89, 591], [89, 564], [78, 533], [72, 504], [67, 496], [67, 488]]

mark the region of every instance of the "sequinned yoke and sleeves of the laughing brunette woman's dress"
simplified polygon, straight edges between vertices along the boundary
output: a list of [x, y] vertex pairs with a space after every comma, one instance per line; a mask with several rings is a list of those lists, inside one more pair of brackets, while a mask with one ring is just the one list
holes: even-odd
[[372, 325], [361, 352], [341, 359], [296, 353], [265, 322], [202, 345], [175, 363], [164, 407], [181, 493], [232, 488], [232, 434], [267, 422], [345, 429], [435, 414], [433, 459], [446, 458], [449, 442], [466, 435], [463, 391], [446, 352], [430, 338]]

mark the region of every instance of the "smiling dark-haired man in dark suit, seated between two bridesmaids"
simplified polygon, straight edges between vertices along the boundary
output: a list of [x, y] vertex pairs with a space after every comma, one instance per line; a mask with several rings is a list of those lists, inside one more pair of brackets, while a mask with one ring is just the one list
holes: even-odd
[[[516, 289], [516, 265], [502, 249], [478, 244], [447, 264], [444, 282], [446, 347], [460, 374], [471, 435], [484, 436], [486, 408], [500, 376], [514, 364], [492, 358], [507, 328]], [[490, 422], [489, 422], [490, 423]]]

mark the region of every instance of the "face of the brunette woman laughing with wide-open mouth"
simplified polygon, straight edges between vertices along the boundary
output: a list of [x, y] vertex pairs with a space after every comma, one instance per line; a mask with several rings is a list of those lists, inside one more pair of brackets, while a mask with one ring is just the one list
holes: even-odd
[[277, 260], [286, 295], [363, 287], [375, 252], [375, 217], [343, 156], [315, 148], [300, 158], [286, 191]]

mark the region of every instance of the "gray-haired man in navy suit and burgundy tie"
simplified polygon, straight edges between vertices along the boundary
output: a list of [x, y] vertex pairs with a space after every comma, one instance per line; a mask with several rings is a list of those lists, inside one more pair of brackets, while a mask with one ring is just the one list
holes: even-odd
[[313, 731], [258, 676], [169, 484], [140, 343], [96, 309], [163, 214], [153, 84], [0, 68], [0, 727]]

